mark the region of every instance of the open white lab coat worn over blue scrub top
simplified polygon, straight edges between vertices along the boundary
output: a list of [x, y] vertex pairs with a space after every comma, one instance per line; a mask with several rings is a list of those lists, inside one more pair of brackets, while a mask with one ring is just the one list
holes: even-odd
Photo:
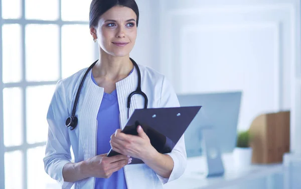
[[[180, 106], [171, 83], [164, 75], [142, 65], [139, 65], [139, 68], [141, 89], [148, 97], [148, 108]], [[75, 162], [96, 155], [96, 117], [104, 89], [92, 81], [91, 70], [84, 81], [76, 109], [78, 125], [73, 131], [65, 126], [65, 121], [72, 112], [78, 85], [86, 70], [87, 68], [82, 69], [58, 82], [47, 114], [49, 132], [46, 156], [43, 159], [45, 171], [56, 179], [62, 188], [70, 188], [75, 184], [75, 189], [94, 189], [95, 177], [73, 183], [64, 181], [62, 175], [63, 166], [71, 160], [70, 145], [74, 152]], [[121, 129], [127, 121], [126, 100], [128, 94], [136, 89], [137, 81], [137, 70], [134, 69], [129, 76], [116, 83]], [[130, 115], [134, 109], [143, 107], [144, 99], [140, 95], [134, 95], [131, 99]], [[179, 178], [184, 173], [187, 164], [184, 135], [172, 152], [168, 154], [174, 160], [174, 169], [169, 178], [162, 178], [157, 175], [146, 164], [126, 165], [124, 173], [128, 189], [162, 188], [164, 183]]]

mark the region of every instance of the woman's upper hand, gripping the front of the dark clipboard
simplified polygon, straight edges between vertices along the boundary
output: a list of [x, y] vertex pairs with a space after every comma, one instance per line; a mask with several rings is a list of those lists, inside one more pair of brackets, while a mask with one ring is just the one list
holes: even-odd
[[137, 127], [138, 135], [121, 133], [120, 129], [111, 136], [110, 144], [114, 151], [143, 160], [156, 150], [141, 126]]

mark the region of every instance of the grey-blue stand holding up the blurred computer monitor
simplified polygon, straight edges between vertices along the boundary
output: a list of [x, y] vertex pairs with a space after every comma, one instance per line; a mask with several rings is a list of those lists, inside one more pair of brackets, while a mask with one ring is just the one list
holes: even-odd
[[224, 174], [224, 165], [221, 158], [221, 151], [217, 143], [217, 135], [213, 127], [202, 128], [203, 153], [207, 162], [205, 171], [206, 177], [221, 176]]

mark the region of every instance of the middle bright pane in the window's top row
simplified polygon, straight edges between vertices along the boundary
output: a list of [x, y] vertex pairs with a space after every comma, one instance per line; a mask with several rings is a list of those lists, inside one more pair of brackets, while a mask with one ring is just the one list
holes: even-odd
[[[58, 0], [26, 0], [25, 19], [57, 20], [59, 18]], [[46, 36], [45, 36], [46, 37]]]

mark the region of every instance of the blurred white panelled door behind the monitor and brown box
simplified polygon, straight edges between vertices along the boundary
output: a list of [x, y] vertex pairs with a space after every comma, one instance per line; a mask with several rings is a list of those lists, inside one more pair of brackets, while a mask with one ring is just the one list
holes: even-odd
[[242, 90], [238, 129], [261, 113], [288, 110], [298, 2], [162, 0], [160, 71], [178, 93]]

